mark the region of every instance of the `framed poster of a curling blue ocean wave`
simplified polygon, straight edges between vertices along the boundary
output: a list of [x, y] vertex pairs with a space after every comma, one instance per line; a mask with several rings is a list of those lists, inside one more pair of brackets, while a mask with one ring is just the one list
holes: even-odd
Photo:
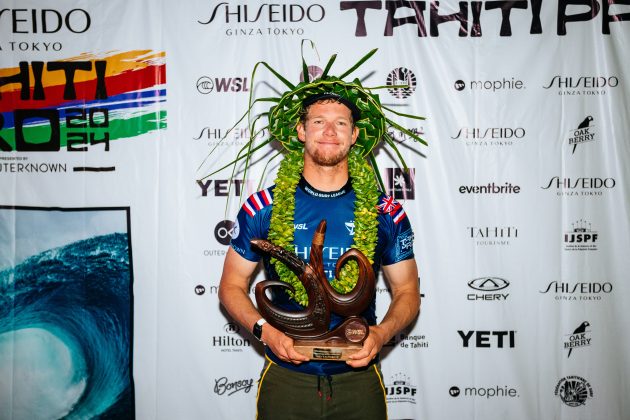
[[0, 419], [135, 418], [128, 208], [0, 206]]

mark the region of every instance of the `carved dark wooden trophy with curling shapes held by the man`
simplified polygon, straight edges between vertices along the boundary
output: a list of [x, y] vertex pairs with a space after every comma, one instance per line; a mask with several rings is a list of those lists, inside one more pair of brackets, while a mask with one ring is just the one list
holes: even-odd
[[[368, 323], [359, 314], [374, 296], [374, 270], [359, 250], [352, 248], [346, 251], [337, 261], [335, 277], [339, 277], [341, 267], [348, 260], [355, 260], [359, 267], [359, 278], [349, 293], [335, 291], [324, 274], [322, 250], [325, 235], [326, 220], [322, 220], [313, 235], [309, 264], [269, 241], [252, 239], [252, 245], [278, 259], [295, 273], [308, 296], [308, 306], [304, 310], [283, 310], [274, 306], [265, 291], [270, 287], [294, 291], [293, 287], [283, 281], [265, 280], [256, 285], [256, 303], [267, 322], [294, 339], [296, 351], [312, 360], [341, 361], [360, 350], [369, 334]], [[346, 319], [329, 331], [331, 312]]]

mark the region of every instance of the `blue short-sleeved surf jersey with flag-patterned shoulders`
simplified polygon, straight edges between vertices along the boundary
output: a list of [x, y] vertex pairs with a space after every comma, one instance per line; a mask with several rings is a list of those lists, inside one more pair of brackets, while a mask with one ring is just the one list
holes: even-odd
[[[267, 279], [277, 279], [268, 256], [261, 256], [252, 249], [249, 241], [253, 238], [267, 239], [273, 207], [274, 187], [252, 194], [238, 213], [232, 238], [232, 248], [250, 261], [263, 259]], [[308, 262], [311, 241], [317, 225], [326, 219], [326, 237], [324, 240], [324, 272], [329, 280], [335, 275], [335, 265], [339, 257], [352, 247], [354, 235], [355, 193], [350, 181], [340, 190], [322, 192], [311, 187], [304, 178], [300, 180], [295, 192], [294, 244], [295, 253]], [[395, 264], [413, 258], [413, 231], [402, 206], [392, 197], [381, 194], [378, 202], [378, 241], [374, 253], [374, 272], [378, 273], [381, 265]], [[284, 290], [274, 288], [274, 304], [289, 310], [303, 309], [290, 299]], [[375, 299], [361, 314], [370, 325], [376, 324]], [[331, 328], [336, 327], [343, 318], [331, 314]], [[300, 365], [285, 363], [267, 348], [268, 356], [279, 365], [299, 372], [311, 374], [336, 374], [352, 370], [350, 366], [339, 362], [311, 361]]]

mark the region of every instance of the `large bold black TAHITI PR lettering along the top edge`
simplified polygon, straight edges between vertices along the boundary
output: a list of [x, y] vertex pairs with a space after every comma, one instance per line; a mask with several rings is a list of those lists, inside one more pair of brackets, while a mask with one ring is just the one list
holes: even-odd
[[[525, 11], [521, 9], [527, 9], [528, 3], [531, 4], [531, 11]], [[354, 10], [356, 15], [356, 25], [354, 29], [354, 35], [357, 37], [368, 36], [368, 27], [366, 25], [366, 12], [371, 10], [370, 16], [374, 14], [380, 15], [384, 19], [385, 31], [382, 33], [384, 36], [394, 36], [394, 30], [397, 33], [403, 32], [404, 34], [415, 32], [419, 38], [427, 36], [437, 37], [440, 36], [439, 25], [449, 22], [459, 22], [459, 30], [456, 25], [449, 25], [448, 28], [451, 31], [451, 35], [454, 35], [453, 31], [457, 31], [457, 35], [461, 37], [480, 37], [483, 35], [481, 25], [481, 15], [484, 15], [484, 22], [488, 19], [500, 20], [496, 26], [500, 26], [499, 36], [512, 36], [512, 22], [510, 21], [511, 14], [521, 13], [527, 14], [527, 17], [531, 17], [528, 25], [519, 25], [516, 27], [519, 33], [542, 34], [543, 26], [540, 19], [540, 11], [542, 8], [542, 0], [530, 0], [529, 2], [514, 3], [509, 1], [497, 1], [486, 2], [485, 5], [479, 1], [461, 1], [459, 2], [459, 11], [454, 13], [448, 13], [452, 7], [449, 5], [442, 6], [440, 9], [440, 2], [429, 1], [341, 1], [340, 9]], [[618, 13], [611, 14], [610, 8], [615, 4], [625, 5], [624, 0], [608, 0], [602, 1], [601, 5], [597, 0], [584, 3], [576, 0], [559, 0], [557, 5], [557, 19], [554, 25], [554, 29], [558, 35], [567, 34], [567, 23], [572, 23], [575, 26], [575, 22], [587, 22], [595, 19], [600, 14], [602, 20], [602, 34], [610, 34], [611, 22], [623, 22], [628, 20], [627, 14]], [[570, 9], [575, 5], [581, 5], [588, 8], [588, 10], [580, 13], [569, 13]], [[401, 10], [399, 10], [401, 9]], [[427, 10], [428, 9], [428, 10]], [[445, 10], [446, 9], [446, 10]], [[493, 9], [500, 9], [501, 12], [493, 11]], [[378, 10], [382, 12], [373, 12]], [[486, 12], [484, 12], [484, 10]], [[490, 11], [490, 12], [488, 12]], [[427, 15], [428, 14], [428, 18]], [[378, 17], [378, 16], [377, 16]], [[374, 22], [375, 19], [370, 19], [370, 22]], [[378, 22], [378, 19], [376, 19]], [[427, 32], [426, 22], [429, 23], [429, 31]], [[401, 26], [411, 25], [413, 28], [400, 29]], [[378, 23], [378, 29], [372, 31], [381, 36], [383, 23]], [[415, 29], [415, 30], [414, 30]], [[549, 29], [548, 29], [549, 30]], [[553, 30], [553, 29], [551, 29]], [[378, 31], [378, 32], [377, 32]]]

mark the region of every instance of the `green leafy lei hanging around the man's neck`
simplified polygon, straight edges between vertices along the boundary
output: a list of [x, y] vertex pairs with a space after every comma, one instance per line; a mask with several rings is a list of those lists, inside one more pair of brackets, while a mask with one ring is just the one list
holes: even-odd
[[[276, 186], [274, 189], [274, 205], [271, 213], [269, 240], [274, 244], [293, 252], [293, 218], [295, 214], [295, 190], [304, 168], [304, 157], [299, 151], [286, 154], [280, 163]], [[352, 148], [348, 156], [348, 170], [356, 199], [354, 203], [354, 238], [352, 248], [361, 251], [370, 261], [374, 262], [376, 248], [378, 212], [376, 204], [379, 197], [376, 180], [372, 168], [361, 157], [358, 148]], [[295, 290], [289, 293], [299, 304], [308, 305], [308, 296], [300, 280], [283, 263], [272, 259], [272, 263], [285, 283]], [[340, 278], [331, 282], [332, 287], [339, 293], [348, 293], [354, 289], [358, 279], [358, 267], [355, 261], [346, 263], [340, 272]]]

